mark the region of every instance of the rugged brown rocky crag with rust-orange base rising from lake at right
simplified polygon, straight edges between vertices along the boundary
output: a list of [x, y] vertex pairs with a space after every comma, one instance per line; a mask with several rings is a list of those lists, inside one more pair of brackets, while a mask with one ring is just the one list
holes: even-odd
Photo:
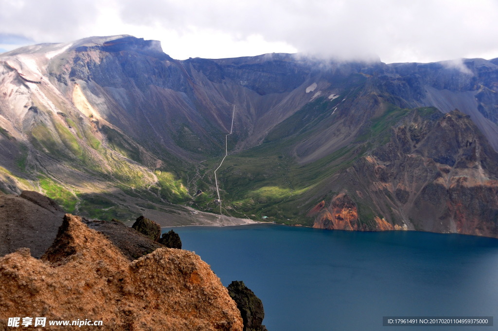
[[338, 189], [357, 202], [341, 193], [309, 216], [319, 228], [498, 237], [497, 164], [469, 116], [415, 110], [392, 128], [387, 144], [341, 173]]

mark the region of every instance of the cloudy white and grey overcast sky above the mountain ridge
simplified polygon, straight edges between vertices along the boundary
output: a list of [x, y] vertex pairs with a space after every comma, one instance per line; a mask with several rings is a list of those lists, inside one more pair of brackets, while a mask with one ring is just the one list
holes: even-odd
[[0, 52], [131, 34], [176, 59], [303, 52], [382, 62], [498, 57], [497, 0], [0, 0]]

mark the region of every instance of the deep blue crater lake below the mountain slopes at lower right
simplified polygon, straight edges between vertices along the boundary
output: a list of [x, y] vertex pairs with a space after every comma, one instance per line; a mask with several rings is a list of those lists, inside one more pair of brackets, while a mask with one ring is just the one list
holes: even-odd
[[173, 229], [225, 286], [246, 283], [269, 331], [498, 330], [498, 321], [382, 327], [383, 316], [497, 315], [497, 239], [274, 224]]

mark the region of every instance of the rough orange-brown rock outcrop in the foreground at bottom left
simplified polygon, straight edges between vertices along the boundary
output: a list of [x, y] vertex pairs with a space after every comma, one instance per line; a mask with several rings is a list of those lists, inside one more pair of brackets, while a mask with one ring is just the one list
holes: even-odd
[[41, 260], [27, 248], [0, 258], [0, 330], [9, 317], [102, 320], [99, 330], [243, 329], [235, 302], [199, 256], [159, 248], [130, 262], [70, 214]]

